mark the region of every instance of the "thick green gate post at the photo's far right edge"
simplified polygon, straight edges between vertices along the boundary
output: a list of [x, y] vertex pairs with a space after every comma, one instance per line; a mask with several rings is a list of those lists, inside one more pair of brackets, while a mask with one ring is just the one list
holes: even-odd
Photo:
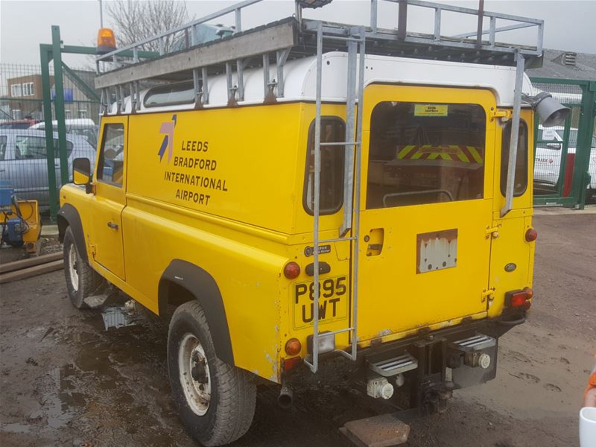
[[573, 166], [573, 195], [578, 198], [576, 209], [583, 210], [586, 203], [586, 188], [589, 183], [588, 166], [592, 150], [592, 129], [594, 129], [594, 103], [596, 101], [596, 81], [582, 85], [582, 109], [578, 125], [578, 144], [575, 149]]

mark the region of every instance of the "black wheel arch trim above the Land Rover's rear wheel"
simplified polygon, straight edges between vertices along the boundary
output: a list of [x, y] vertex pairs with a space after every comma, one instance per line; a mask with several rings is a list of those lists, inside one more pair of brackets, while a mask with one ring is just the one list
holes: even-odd
[[167, 306], [169, 283], [178, 284], [188, 290], [203, 308], [209, 324], [209, 331], [218, 358], [234, 366], [232, 341], [229, 336], [224, 300], [218, 284], [206, 270], [181, 259], [173, 259], [159, 280], [159, 313], [163, 315]]

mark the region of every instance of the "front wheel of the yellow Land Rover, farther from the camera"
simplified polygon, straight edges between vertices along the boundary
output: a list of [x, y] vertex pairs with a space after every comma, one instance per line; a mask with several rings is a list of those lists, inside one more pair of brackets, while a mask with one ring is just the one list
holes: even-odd
[[105, 280], [80, 257], [70, 226], [64, 233], [63, 250], [64, 275], [70, 301], [77, 309], [87, 308], [88, 306], [83, 300], [95, 294], [105, 284]]

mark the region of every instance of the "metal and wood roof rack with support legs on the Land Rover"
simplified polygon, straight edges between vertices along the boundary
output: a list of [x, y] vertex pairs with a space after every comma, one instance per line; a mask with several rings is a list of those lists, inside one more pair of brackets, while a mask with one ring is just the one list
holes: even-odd
[[[319, 23], [324, 33], [323, 52], [347, 51], [350, 34], [353, 30], [362, 28], [350, 24], [302, 18], [303, 5], [307, 5], [309, 0], [296, 0], [293, 17], [243, 31], [241, 26], [243, 9], [260, 1], [262, 0], [238, 2], [183, 26], [98, 56], [95, 88], [101, 91], [102, 113], [107, 111], [108, 103], [114, 99], [117, 104], [116, 113], [120, 113], [120, 105], [128, 95], [132, 101], [132, 113], [138, 111], [141, 107], [139, 82], [147, 80], [157, 82], [193, 80], [195, 107], [198, 108], [209, 102], [207, 88], [209, 77], [224, 73], [228, 80], [229, 105], [234, 105], [244, 99], [243, 72], [244, 69], [252, 67], [263, 67], [263, 99], [275, 101], [275, 98], [284, 96], [285, 62], [316, 55]], [[325, 1], [322, 3], [324, 4]], [[378, 1], [398, 4], [399, 15], [395, 29], [383, 29], [377, 26]], [[315, 3], [320, 5], [321, 1]], [[408, 32], [406, 25], [410, 7], [434, 10], [433, 34]], [[478, 29], [476, 32], [443, 36], [441, 34], [443, 11], [478, 17]], [[232, 13], [235, 16], [233, 35], [206, 43], [194, 42], [195, 27]], [[482, 29], [484, 17], [489, 18], [488, 30]], [[505, 20], [513, 24], [498, 27], [497, 20]], [[537, 29], [535, 46], [502, 44], [496, 41], [496, 34], [499, 32], [527, 27]], [[543, 30], [543, 20], [423, 0], [371, 0], [370, 26], [364, 27], [367, 54], [501, 66], [516, 66], [517, 54], [521, 54], [526, 67], [542, 64]], [[483, 37], [486, 35], [488, 39]], [[168, 52], [166, 42], [174, 40], [181, 41], [183, 49]], [[155, 45], [156, 42], [157, 45]], [[150, 52], [144, 51], [147, 45], [159, 47], [159, 52], [151, 55]], [[271, 79], [270, 64], [275, 64], [274, 79]]]

